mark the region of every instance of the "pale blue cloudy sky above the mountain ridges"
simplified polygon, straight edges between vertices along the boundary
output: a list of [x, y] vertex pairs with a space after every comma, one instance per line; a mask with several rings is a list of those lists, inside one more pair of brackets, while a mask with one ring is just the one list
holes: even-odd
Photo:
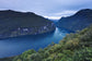
[[0, 10], [34, 12], [51, 20], [92, 9], [92, 0], [0, 0]]

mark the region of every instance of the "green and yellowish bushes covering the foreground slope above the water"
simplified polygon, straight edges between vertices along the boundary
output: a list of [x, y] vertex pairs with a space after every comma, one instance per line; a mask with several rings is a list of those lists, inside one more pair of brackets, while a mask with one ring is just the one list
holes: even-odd
[[59, 44], [27, 50], [13, 61], [92, 61], [92, 26], [67, 35]]

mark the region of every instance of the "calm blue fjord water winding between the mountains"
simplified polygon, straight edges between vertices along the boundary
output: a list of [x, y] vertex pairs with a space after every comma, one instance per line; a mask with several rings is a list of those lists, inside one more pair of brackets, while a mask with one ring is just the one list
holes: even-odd
[[68, 33], [68, 30], [56, 28], [51, 34], [2, 39], [0, 40], [0, 58], [21, 54], [28, 49], [38, 50], [51, 42], [58, 44]]

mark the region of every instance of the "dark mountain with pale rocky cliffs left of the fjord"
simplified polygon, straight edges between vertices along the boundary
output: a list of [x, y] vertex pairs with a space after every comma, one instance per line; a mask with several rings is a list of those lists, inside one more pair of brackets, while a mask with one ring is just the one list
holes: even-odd
[[0, 11], [0, 38], [36, 35], [55, 30], [51, 21], [32, 12]]

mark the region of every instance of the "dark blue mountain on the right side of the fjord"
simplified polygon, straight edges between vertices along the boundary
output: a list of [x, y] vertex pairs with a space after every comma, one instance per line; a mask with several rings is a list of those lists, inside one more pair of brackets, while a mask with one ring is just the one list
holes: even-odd
[[61, 17], [57, 26], [76, 32], [88, 27], [90, 24], [92, 24], [92, 10], [83, 9], [71, 16]]

